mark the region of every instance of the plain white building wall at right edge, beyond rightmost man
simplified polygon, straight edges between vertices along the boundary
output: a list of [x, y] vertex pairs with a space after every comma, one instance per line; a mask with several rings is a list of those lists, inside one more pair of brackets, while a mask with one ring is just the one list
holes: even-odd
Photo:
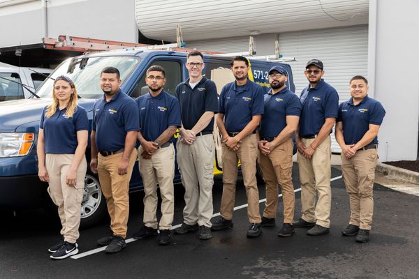
[[[419, 117], [419, 1], [371, 1], [370, 29], [376, 29], [374, 95], [385, 111], [378, 134], [381, 161], [416, 160]], [[375, 9], [375, 11], [374, 11]]]

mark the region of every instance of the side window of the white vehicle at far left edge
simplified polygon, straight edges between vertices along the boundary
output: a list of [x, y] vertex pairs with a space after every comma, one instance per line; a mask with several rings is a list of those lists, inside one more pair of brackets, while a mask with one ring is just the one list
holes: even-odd
[[0, 73], [0, 101], [24, 99], [21, 83], [17, 73]]

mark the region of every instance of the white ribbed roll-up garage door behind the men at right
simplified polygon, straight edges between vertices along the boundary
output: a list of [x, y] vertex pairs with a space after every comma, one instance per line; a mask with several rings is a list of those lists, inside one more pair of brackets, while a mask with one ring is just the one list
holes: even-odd
[[[367, 77], [367, 25], [280, 33], [278, 37], [279, 52], [285, 57], [297, 59], [297, 61], [287, 63], [293, 68], [295, 91], [298, 96], [308, 85], [304, 68], [307, 61], [313, 58], [323, 61], [324, 79], [339, 93], [339, 103], [350, 98], [348, 82], [351, 77], [354, 75]], [[261, 40], [256, 36], [255, 44], [258, 50], [260, 45], [274, 45], [274, 42]], [[190, 42], [188, 46], [219, 52], [246, 52], [249, 47], [249, 37], [200, 40]], [[332, 133], [332, 152], [340, 153], [340, 151], [339, 144]]]

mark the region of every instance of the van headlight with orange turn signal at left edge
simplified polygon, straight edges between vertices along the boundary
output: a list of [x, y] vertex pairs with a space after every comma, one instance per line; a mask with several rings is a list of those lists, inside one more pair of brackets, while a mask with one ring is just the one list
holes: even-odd
[[34, 133], [0, 133], [0, 158], [28, 155], [34, 139]]

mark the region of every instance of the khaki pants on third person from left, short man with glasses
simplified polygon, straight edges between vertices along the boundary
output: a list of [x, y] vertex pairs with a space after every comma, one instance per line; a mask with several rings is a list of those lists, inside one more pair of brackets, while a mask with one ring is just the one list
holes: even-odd
[[159, 229], [170, 229], [175, 211], [173, 178], [175, 176], [175, 148], [173, 144], [157, 149], [151, 159], [142, 158], [142, 146], [138, 148], [140, 174], [144, 185], [144, 225], [157, 229], [157, 183], [161, 195], [161, 219]]

